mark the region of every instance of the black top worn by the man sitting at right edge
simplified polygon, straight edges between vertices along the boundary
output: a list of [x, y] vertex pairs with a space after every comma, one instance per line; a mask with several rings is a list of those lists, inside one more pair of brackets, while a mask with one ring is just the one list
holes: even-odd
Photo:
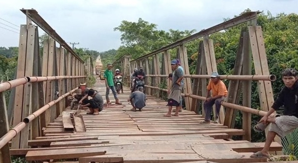
[[298, 82], [294, 84], [293, 88], [284, 87], [276, 101], [274, 101], [272, 108], [279, 109], [281, 106], [285, 107], [284, 115], [294, 115], [298, 118]]

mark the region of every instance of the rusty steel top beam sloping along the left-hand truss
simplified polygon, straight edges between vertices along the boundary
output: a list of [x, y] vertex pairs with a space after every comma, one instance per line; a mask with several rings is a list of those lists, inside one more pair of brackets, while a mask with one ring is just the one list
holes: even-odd
[[61, 46], [63, 46], [70, 54], [74, 55], [75, 58], [79, 59], [82, 63], [84, 61], [75, 53], [73, 49], [56, 33], [56, 31], [38, 14], [34, 9], [20, 9], [25, 15], [28, 13], [28, 17], [54, 40], [56, 40]]

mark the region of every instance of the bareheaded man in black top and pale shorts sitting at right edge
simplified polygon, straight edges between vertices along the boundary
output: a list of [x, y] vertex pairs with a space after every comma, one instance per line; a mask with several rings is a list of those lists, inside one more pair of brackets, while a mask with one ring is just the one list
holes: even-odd
[[[281, 73], [285, 87], [281, 90], [277, 100], [273, 103], [271, 109], [255, 126], [254, 130], [262, 132], [269, 125], [264, 148], [257, 153], [252, 154], [252, 158], [261, 158], [269, 156], [269, 147], [277, 135], [285, 137], [294, 129], [298, 128], [298, 72], [293, 68], [286, 68]], [[279, 117], [269, 117], [274, 111], [284, 106], [284, 115]]]

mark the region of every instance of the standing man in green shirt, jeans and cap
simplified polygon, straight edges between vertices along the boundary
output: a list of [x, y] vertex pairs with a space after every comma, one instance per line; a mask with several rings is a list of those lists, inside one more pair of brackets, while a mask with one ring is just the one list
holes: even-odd
[[114, 75], [111, 70], [112, 67], [113, 67], [112, 64], [108, 63], [107, 69], [106, 69], [106, 71], [104, 71], [104, 75], [103, 75], [103, 77], [105, 78], [105, 83], [106, 83], [106, 87], [107, 87], [107, 90], [106, 90], [107, 105], [112, 104], [109, 99], [110, 89], [112, 90], [114, 98], [116, 100], [115, 104], [121, 105], [122, 103], [119, 102], [119, 99], [118, 99], [117, 93], [116, 93], [116, 89], [114, 86], [114, 80], [113, 80]]

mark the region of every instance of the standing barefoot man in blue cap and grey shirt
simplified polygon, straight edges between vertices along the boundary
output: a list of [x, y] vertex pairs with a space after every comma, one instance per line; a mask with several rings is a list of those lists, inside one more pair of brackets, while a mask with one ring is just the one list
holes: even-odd
[[171, 117], [172, 107], [176, 106], [176, 112], [173, 116], [179, 116], [179, 102], [181, 97], [181, 80], [183, 79], [183, 75], [180, 69], [178, 69], [178, 62], [176, 59], [171, 61], [171, 68], [173, 71], [172, 74], [172, 87], [168, 96], [168, 113], [164, 116]]

